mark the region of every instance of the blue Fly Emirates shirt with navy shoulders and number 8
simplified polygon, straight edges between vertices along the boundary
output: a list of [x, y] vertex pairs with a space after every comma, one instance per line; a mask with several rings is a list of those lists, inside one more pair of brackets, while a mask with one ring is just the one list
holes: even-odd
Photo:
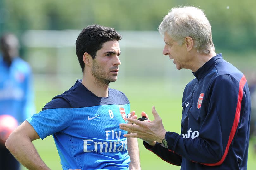
[[124, 93], [109, 88], [97, 97], [81, 80], [47, 103], [27, 121], [41, 139], [53, 134], [61, 165], [66, 169], [128, 169], [126, 122], [130, 103]]

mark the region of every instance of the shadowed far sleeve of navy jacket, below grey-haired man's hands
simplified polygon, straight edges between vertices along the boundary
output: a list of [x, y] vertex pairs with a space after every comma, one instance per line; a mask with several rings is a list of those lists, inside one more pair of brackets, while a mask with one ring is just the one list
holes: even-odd
[[146, 149], [159, 156], [162, 160], [173, 165], [181, 165], [182, 157], [163, 147], [161, 144], [156, 143], [154, 147], [149, 145], [145, 141], [143, 141], [143, 144]]

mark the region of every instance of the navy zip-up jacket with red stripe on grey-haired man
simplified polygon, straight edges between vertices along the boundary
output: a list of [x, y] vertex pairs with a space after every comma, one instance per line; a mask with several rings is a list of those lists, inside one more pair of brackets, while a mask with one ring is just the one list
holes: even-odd
[[181, 170], [247, 169], [251, 99], [243, 73], [218, 54], [183, 92], [181, 134], [167, 132], [168, 149], [144, 146]]

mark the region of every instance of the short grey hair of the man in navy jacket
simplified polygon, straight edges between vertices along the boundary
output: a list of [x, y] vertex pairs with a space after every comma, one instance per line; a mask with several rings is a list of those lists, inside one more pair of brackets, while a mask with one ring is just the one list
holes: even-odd
[[199, 54], [209, 54], [211, 50], [215, 50], [210, 22], [204, 12], [196, 7], [171, 9], [158, 30], [162, 35], [167, 32], [179, 45], [185, 43], [185, 37], [191, 37]]

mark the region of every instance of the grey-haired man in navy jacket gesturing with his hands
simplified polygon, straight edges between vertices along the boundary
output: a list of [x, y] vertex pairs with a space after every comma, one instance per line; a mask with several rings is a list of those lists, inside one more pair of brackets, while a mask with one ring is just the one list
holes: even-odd
[[173, 8], [159, 32], [164, 36], [163, 54], [178, 70], [190, 69], [195, 76], [183, 92], [181, 134], [167, 132], [153, 106], [153, 121], [127, 118], [136, 125], [120, 124], [131, 132], [124, 136], [143, 139], [148, 150], [181, 170], [247, 169], [251, 112], [247, 80], [215, 53], [204, 12]]

